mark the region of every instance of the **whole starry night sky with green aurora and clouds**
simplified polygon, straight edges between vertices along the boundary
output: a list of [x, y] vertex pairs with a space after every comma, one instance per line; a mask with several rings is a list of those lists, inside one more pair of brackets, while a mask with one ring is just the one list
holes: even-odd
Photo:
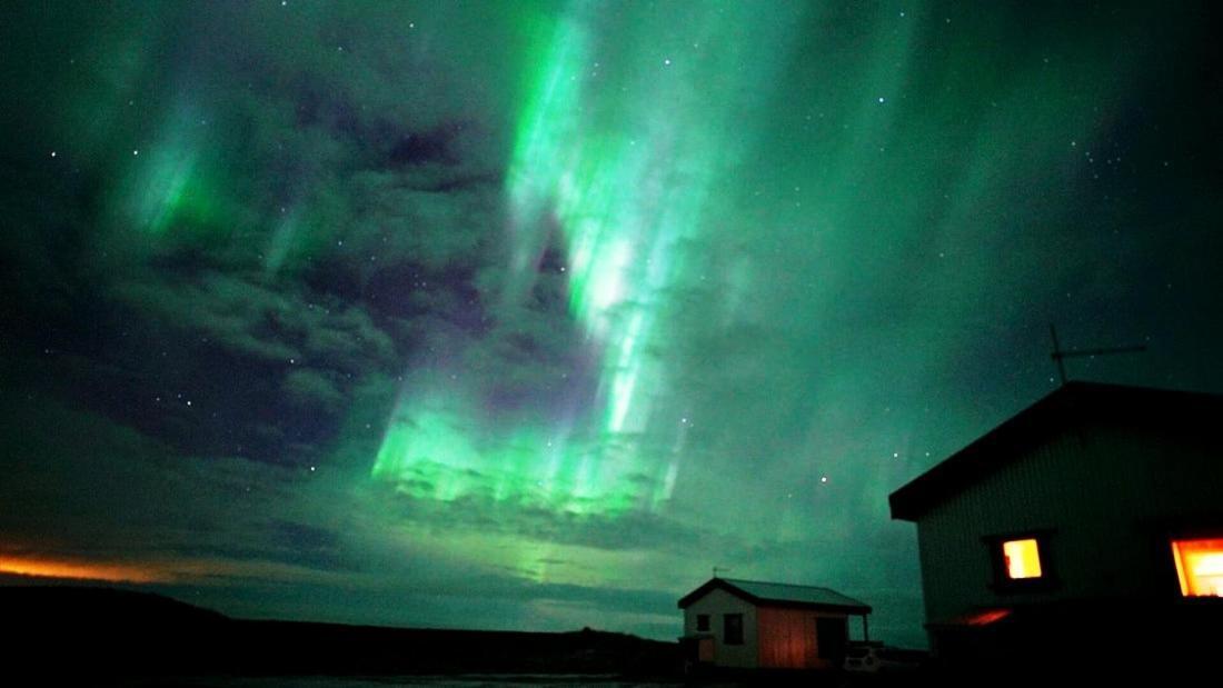
[[1211, 2], [18, 2], [0, 579], [922, 644], [888, 494], [1075, 379], [1223, 392]]

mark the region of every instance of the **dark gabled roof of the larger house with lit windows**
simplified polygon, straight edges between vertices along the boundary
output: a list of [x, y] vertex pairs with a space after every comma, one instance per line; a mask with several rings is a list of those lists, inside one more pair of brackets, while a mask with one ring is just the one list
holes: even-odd
[[892, 492], [892, 518], [916, 521], [943, 500], [1021, 458], [1052, 436], [1090, 422], [1155, 428], [1223, 424], [1223, 397], [1200, 392], [1066, 382]]

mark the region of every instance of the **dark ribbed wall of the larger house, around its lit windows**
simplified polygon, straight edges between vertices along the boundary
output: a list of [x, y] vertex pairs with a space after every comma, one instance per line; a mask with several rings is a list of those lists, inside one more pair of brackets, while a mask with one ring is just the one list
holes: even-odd
[[[1175, 593], [1168, 523], [1218, 514], [1223, 452], [1202, 437], [1096, 424], [1052, 437], [917, 523], [927, 621], [972, 607]], [[997, 593], [987, 535], [1049, 529], [1047, 591]]]

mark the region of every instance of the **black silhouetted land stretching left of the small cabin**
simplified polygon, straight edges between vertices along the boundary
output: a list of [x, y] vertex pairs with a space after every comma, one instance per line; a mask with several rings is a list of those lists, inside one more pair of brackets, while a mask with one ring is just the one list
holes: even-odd
[[[498, 684], [482, 678], [489, 675], [536, 683], [580, 675], [643, 684], [680, 671], [678, 644], [620, 633], [243, 621], [110, 588], [0, 588], [0, 613], [6, 676], [39, 683], [435, 686], [446, 676], [455, 686], [482, 686]], [[455, 678], [460, 673], [470, 678]], [[297, 678], [274, 678], [285, 676]]]

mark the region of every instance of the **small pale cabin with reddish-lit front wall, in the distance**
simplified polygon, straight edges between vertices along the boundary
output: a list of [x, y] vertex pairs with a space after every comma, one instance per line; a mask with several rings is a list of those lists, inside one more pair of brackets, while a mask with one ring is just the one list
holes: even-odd
[[828, 588], [711, 578], [679, 601], [690, 666], [833, 668], [845, 657], [850, 617], [865, 602]]

